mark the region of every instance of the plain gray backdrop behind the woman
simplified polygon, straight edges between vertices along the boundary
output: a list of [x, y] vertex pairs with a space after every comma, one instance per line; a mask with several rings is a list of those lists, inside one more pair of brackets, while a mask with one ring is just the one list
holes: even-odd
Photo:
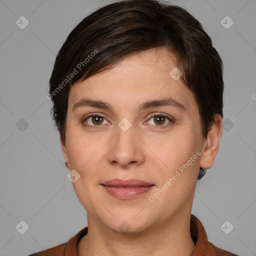
[[[0, 255], [22, 256], [67, 242], [87, 225], [66, 177], [46, 94], [66, 36], [110, 2], [0, 0]], [[228, 128], [213, 167], [197, 184], [192, 213], [216, 246], [256, 255], [256, 1], [172, 2], [202, 23], [224, 63]], [[21, 15], [29, 20], [24, 29], [15, 24]], [[220, 23], [226, 15], [234, 21], [229, 29]], [[16, 126], [21, 118], [28, 123], [23, 130]], [[24, 234], [15, 228], [21, 220], [29, 226]], [[229, 234], [220, 228], [226, 220], [234, 226]]]

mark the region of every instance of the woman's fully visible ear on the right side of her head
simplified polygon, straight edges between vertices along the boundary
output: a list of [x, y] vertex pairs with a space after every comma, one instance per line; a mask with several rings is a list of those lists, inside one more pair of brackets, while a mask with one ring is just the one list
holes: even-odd
[[202, 148], [202, 154], [199, 166], [203, 169], [209, 169], [214, 162], [218, 152], [219, 139], [222, 135], [222, 117], [219, 114], [214, 115], [214, 122], [208, 131], [207, 138]]

